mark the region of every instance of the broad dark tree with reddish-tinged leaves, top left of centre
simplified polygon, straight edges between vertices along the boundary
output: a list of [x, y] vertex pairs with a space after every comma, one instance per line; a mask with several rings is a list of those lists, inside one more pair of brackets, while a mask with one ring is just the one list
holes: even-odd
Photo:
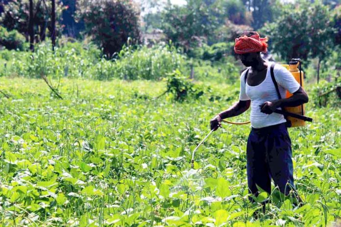
[[76, 19], [84, 20], [85, 33], [112, 56], [128, 38], [141, 43], [140, 11], [132, 0], [78, 0]]

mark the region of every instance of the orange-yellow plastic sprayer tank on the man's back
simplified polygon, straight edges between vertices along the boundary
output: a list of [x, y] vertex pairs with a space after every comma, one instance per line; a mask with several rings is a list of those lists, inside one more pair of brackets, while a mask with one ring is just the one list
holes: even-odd
[[[302, 88], [304, 88], [303, 71], [298, 69], [299, 64], [300, 64], [299, 61], [292, 60], [289, 63], [289, 65], [282, 65], [282, 66], [287, 68], [292, 73], [295, 80], [301, 85]], [[290, 96], [292, 96], [292, 93], [287, 91], [286, 98], [289, 98]], [[304, 113], [305, 113], [305, 105], [304, 104], [297, 106], [297, 107], [286, 107], [284, 109], [285, 109], [285, 111], [291, 112], [294, 114], [304, 115]], [[302, 126], [306, 125], [304, 120], [300, 120], [300, 119], [297, 119], [297, 118], [294, 118], [291, 116], [288, 116], [287, 119], [291, 122], [291, 127], [302, 127]]]

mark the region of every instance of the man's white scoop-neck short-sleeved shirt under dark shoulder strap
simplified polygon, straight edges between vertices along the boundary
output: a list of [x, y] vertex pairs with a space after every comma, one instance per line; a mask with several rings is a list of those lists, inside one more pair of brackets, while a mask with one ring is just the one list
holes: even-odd
[[[249, 86], [247, 83], [245, 84], [245, 72], [247, 69], [241, 75], [241, 92], [239, 99], [251, 100], [251, 126], [257, 129], [286, 122], [286, 119], [282, 114], [264, 114], [259, 109], [261, 104], [278, 99], [275, 85], [271, 79], [271, 64], [271, 62], [268, 62], [267, 75], [259, 85]], [[285, 67], [276, 64], [273, 72], [282, 98], [286, 97], [287, 90], [293, 93], [299, 89], [300, 85], [292, 76], [291, 72]]]

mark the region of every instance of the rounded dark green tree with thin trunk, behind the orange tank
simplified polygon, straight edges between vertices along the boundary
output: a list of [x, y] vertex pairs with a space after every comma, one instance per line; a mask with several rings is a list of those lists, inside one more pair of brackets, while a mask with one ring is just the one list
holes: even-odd
[[320, 1], [311, 4], [301, 2], [298, 7], [288, 5], [274, 23], [262, 29], [269, 37], [272, 51], [278, 53], [283, 60], [302, 58], [318, 58], [319, 65], [333, 46], [334, 28], [329, 18], [329, 7]]

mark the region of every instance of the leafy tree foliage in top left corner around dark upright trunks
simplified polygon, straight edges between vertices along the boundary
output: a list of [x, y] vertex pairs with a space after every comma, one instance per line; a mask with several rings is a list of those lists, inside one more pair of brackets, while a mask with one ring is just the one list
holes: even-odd
[[[15, 0], [9, 1], [3, 5], [4, 12], [0, 16], [0, 23], [8, 30], [18, 30], [28, 41], [29, 24], [29, 1]], [[46, 38], [46, 29], [49, 30], [49, 36], [52, 32], [51, 24], [51, 1], [33, 0], [33, 23], [36, 42], [44, 41]], [[56, 1], [56, 21], [61, 20], [61, 14], [64, 10], [60, 0]], [[56, 30], [60, 29], [60, 24], [56, 24]]]

